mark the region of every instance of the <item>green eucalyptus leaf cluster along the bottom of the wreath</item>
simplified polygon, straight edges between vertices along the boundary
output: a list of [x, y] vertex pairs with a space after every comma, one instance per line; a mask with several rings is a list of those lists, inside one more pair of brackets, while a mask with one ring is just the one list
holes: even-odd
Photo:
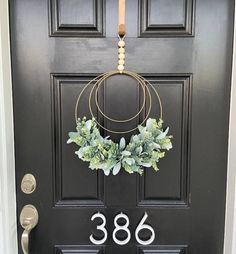
[[143, 173], [143, 168], [152, 167], [158, 171], [157, 163], [165, 156], [165, 150], [172, 148], [168, 136], [169, 127], [163, 130], [163, 120], [149, 118], [146, 126], [138, 126], [139, 133], [133, 135], [126, 145], [122, 137], [119, 143], [110, 137], [103, 138], [95, 119], [86, 117], [77, 120], [76, 132], [69, 133], [67, 143], [75, 143], [80, 148], [75, 153], [89, 162], [89, 168], [102, 169], [105, 175], [117, 175], [121, 169], [128, 173]]

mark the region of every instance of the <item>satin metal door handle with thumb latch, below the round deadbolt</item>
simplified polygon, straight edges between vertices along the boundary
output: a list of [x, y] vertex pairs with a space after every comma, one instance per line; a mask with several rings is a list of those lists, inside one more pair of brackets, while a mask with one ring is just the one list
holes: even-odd
[[36, 207], [33, 205], [26, 205], [20, 213], [20, 224], [24, 229], [21, 236], [21, 247], [24, 254], [29, 254], [29, 236], [32, 229], [34, 229], [39, 220], [39, 215]]

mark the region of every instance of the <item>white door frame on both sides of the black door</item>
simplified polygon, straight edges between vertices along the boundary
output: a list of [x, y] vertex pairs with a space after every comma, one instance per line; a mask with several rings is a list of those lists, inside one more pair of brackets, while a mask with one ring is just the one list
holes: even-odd
[[[0, 254], [18, 253], [8, 1], [0, 1]], [[234, 254], [236, 253], [236, 22], [228, 148], [224, 254]]]

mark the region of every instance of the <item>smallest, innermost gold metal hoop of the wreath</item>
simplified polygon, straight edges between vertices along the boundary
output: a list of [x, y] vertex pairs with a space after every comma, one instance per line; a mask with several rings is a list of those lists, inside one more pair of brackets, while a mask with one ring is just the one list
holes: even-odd
[[[125, 119], [125, 120], [114, 119], [114, 118], [111, 118], [111, 117], [107, 116], [104, 112], [102, 112], [102, 110], [101, 110], [101, 108], [100, 108], [100, 106], [99, 106], [99, 104], [98, 104], [97, 95], [98, 95], [98, 89], [99, 89], [99, 87], [101, 86], [102, 82], [103, 82], [105, 79], [107, 79], [107, 78], [109, 78], [109, 77], [112, 77], [112, 76], [116, 75], [116, 73], [113, 73], [113, 74], [111, 74], [111, 75], [108, 74], [107, 76], [105, 76], [105, 77], [103, 76], [102, 78], [100, 78], [100, 79], [97, 81], [97, 83], [96, 83], [97, 88], [96, 88], [96, 91], [95, 91], [95, 103], [96, 103], [96, 107], [97, 107], [99, 113], [100, 113], [102, 116], [104, 116], [107, 120], [112, 121], [112, 122], [116, 122], [116, 123], [126, 123], [126, 122], [132, 121], [132, 120], [135, 119], [138, 115], [141, 114], [141, 112], [143, 111], [143, 109], [144, 109], [144, 107], [145, 107], [145, 103], [146, 103], [146, 92], [145, 92], [145, 83], [144, 83], [144, 81], [141, 80], [141, 79], [139, 79], [139, 78], [137, 79], [137, 75], [134, 76], [133, 74], [130, 75], [130, 74], [127, 74], [127, 73], [125, 73], [125, 72], [123, 72], [122, 74], [125, 74], [126, 76], [129, 76], [129, 77], [134, 78], [135, 80], [138, 81], [139, 85], [142, 86], [142, 90], [143, 90], [143, 103], [142, 103], [142, 106], [141, 106], [140, 110], [138, 111], [138, 113], [136, 113], [134, 116], [132, 116], [132, 117], [130, 117], [130, 118], [128, 118], [128, 119]], [[95, 87], [95, 85], [94, 85], [94, 87]], [[93, 92], [94, 87], [92, 88], [91, 92]], [[91, 103], [91, 101], [90, 101], [89, 103]]]

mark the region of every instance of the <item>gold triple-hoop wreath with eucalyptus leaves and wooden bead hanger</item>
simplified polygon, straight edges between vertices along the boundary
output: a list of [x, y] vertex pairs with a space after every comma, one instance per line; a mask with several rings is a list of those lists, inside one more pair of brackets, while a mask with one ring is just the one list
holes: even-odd
[[[120, 37], [119, 37], [120, 38]], [[111, 172], [117, 175], [121, 169], [132, 174], [134, 172], [142, 175], [144, 168], [152, 167], [158, 171], [157, 163], [165, 156], [165, 151], [172, 148], [171, 135], [168, 135], [169, 127], [163, 129], [162, 120], [162, 103], [160, 96], [153, 85], [141, 75], [124, 70], [125, 64], [125, 42], [124, 37], [120, 38], [118, 42], [118, 70], [109, 71], [99, 75], [91, 80], [81, 91], [78, 96], [75, 106], [75, 121], [76, 132], [69, 132], [69, 140], [67, 143], [75, 143], [79, 146], [79, 150], [75, 153], [82, 161], [89, 162], [89, 168], [94, 170], [103, 170], [105, 175]], [[136, 115], [129, 119], [118, 120], [107, 116], [102, 112], [98, 103], [98, 89], [106, 79], [114, 75], [127, 75], [135, 79], [141, 86], [143, 91], [143, 103], [140, 110]], [[92, 119], [86, 117], [78, 117], [78, 107], [81, 96], [84, 91], [93, 84], [89, 94], [89, 110]], [[149, 87], [153, 90], [155, 97], [159, 103], [160, 116], [159, 120], [149, 118], [152, 107], [152, 96]], [[115, 131], [104, 127], [96, 119], [91, 100], [95, 98], [95, 105], [97, 111], [108, 121], [116, 122], [119, 124], [129, 122], [135, 119], [141, 112], [147, 111], [142, 123], [135, 128], [126, 131]], [[100, 134], [99, 128], [104, 129], [106, 132], [115, 134], [131, 133], [138, 130], [138, 133], [132, 135], [130, 142], [126, 145], [125, 138], [120, 138], [118, 143], [111, 140], [109, 136], [103, 137]]]

